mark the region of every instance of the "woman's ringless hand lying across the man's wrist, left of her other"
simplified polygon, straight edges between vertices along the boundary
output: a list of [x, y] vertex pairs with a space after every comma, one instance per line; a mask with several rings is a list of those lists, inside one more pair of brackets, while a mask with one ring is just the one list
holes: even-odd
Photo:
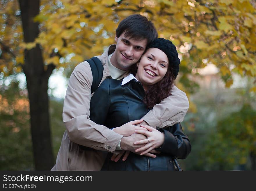
[[143, 122], [143, 119], [130, 121], [126, 124], [123, 124], [120, 127], [113, 128], [113, 131], [115, 131], [116, 133], [118, 133], [120, 135], [124, 135], [125, 137], [132, 135], [135, 130], [147, 131], [147, 128], [136, 126], [136, 124], [139, 124], [141, 122]]

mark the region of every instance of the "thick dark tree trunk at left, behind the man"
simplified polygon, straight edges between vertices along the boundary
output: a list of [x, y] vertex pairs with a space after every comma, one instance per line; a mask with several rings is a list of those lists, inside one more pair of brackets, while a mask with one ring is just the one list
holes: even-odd
[[[39, 0], [19, 0], [24, 41], [34, 42], [38, 37], [38, 23], [33, 18], [39, 13]], [[46, 67], [39, 44], [25, 50], [25, 62], [22, 65], [26, 75], [30, 103], [30, 124], [33, 142], [35, 170], [50, 170], [54, 165], [49, 122], [48, 79], [54, 65]], [[45, 69], [46, 67], [47, 69]]]

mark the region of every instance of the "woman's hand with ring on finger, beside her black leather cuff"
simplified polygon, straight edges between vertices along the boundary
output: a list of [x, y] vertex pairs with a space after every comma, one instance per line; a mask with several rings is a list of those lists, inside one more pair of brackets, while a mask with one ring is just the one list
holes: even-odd
[[135, 152], [141, 152], [141, 155], [144, 155], [151, 150], [160, 147], [163, 142], [164, 142], [164, 134], [161, 133], [160, 131], [148, 126], [148, 125], [141, 125], [141, 127], [146, 128], [147, 131], [143, 130], [135, 130], [135, 133], [140, 133], [145, 136], [147, 136], [147, 139], [141, 140], [141, 141], [136, 141], [134, 144], [145, 144], [143, 147], [136, 149]]

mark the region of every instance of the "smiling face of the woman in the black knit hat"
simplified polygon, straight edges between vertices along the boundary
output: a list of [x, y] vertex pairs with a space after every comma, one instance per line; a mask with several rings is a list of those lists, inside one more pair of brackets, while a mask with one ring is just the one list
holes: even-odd
[[168, 58], [163, 51], [157, 48], [150, 48], [142, 55], [135, 77], [142, 83], [143, 88], [147, 90], [148, 86], [163, 79], [167, 72], [168, 64]]

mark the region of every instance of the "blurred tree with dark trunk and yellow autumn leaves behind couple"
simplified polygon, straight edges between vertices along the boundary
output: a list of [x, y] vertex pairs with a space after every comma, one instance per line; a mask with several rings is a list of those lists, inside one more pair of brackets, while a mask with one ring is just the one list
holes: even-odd
[[114, 43], [118, 22], [128, 15], [148, 17], [159, 37], [174, 42], [182, 57], [178, 86], [186, 92], [195, 87], [188, 74], [207, 63], [220, 69], [226, 87], [233, 83], [231, 72], [256, 77], [255, 0], [0, 3], [0, 69], [5, 76], [22, 69], [26, 75], [36, 169], [53, 164], [47, 97], [52, 70], [101, 54]]

